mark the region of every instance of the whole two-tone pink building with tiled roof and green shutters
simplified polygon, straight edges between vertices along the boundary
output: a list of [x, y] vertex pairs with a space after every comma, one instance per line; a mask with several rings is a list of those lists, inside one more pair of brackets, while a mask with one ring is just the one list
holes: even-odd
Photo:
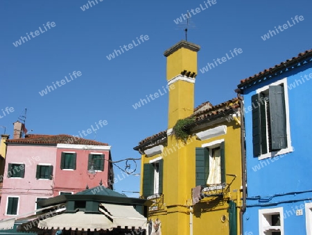
[[[109, 145], [69, 135], [20, 138], [16, 124], [19, 122], [15, 122], [14, 138], [6, 140], [0, 219], [30, 213], [39, 208], [39, 200], [77, 193], [100, 181], [112, 189]], [[88, 172], [90, 168], [95, 175]]]

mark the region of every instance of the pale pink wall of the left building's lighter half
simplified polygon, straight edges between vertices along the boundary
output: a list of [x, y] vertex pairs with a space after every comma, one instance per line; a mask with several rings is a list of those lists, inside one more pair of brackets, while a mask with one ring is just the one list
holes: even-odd
[[[8, 145], [1, 189], [0, 219], [12, 217], [6, 215], [8, 197], [19, 198], [19, 215], [34, 211], [37, 198], [53, 197], [53, 180], [36, 179], [36, 170], [37, 165], [55, 165], [55, 155], [55, 146]], [[8, 163], [24, 164], [24, 178], [8, 178]]]

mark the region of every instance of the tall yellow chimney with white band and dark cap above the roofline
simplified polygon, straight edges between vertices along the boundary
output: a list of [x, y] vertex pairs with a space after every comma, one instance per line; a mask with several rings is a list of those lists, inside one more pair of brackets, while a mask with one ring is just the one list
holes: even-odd
[[194, 84], [197, 75], [197, 52], [200, 46], [182, 40], [164, 52], [167, 58], [168, 129], [177, 120], [193, 114]]

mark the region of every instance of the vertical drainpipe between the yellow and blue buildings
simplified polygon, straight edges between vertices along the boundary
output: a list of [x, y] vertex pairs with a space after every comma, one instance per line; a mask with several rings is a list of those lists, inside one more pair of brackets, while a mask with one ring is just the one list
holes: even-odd
[[243, 184], [243, 206], [241, 206], [241, 212], [239, 213], [239, 227], [241, 235], [243, 235], [243, 213], [246, 211], [246, 156], [245, 156], [245, 124], [244, 124], [244, 104], [243, 97], [241, 97], [241, 89], [236, 89], [237, 97], [239, 98], [239, 104], [241, 106], [241, 175]]

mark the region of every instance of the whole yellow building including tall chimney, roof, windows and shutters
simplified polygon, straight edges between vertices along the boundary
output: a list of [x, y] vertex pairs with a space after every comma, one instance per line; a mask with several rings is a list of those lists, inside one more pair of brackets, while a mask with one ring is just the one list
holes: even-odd
[[240, 103], [194, 108], [199, 50], [182, 40], [164, 52], [168, 128], [134, 148], [142, 155], [141, 197], [153, 201], [147, 234], [239, 234]]

